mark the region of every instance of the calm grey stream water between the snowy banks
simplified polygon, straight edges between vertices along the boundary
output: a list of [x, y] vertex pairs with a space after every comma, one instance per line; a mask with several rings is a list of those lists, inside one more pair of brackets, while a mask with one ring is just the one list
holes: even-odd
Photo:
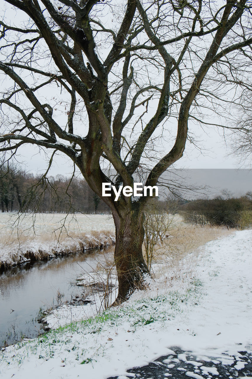
[[42, 324], [37, 321], [41, 316], [39, 310], [82, 293], [75, 279], [93, 271], [97, 262], [104, 260], [104, 252], [111, 253], [112, 247], [48, 262], [26, 263], [0, 274], [0, 346], [20, 341], [22, 337], [34, 338], [43, 332]]

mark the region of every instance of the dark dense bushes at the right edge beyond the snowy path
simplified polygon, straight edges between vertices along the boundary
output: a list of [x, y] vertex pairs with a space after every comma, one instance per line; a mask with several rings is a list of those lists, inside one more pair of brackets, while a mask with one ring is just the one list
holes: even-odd
[[200, 226], [227, 226], [245, 229], [252, 225], [252, 193], [245, 196], [217, 196], [215, 199], [198, 199], [181, 205], [184, 221]]

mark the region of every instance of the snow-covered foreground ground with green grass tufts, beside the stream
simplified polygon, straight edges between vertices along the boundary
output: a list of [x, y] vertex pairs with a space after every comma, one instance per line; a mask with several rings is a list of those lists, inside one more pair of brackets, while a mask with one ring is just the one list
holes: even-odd
[[[133, 294], [121, 307], [94, 316], [95, 305], [62, 307], [48, 315], [54, 328], [48, 334], [2, 351], [0, 376], [123, 379], [128, 368], [172, 354], [172, 346], [205, 359], [239, 355], [252, 343], [251, 253], [252, 231], [235, 232], [174, 268], [156, 265], [149, 290]], [[75, 321], [84, 313], [88, 318]], [[209, 378], [210, 371], [196, 363], [190, 376]], [[216, 371], [212, 375], [218, 377]]]

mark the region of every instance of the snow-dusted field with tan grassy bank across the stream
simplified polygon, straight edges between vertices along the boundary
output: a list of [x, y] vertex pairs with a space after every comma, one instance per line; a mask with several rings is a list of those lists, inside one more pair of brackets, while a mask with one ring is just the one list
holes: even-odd
[[109, 215], [0, 214], [0, 268], [114, 243]]

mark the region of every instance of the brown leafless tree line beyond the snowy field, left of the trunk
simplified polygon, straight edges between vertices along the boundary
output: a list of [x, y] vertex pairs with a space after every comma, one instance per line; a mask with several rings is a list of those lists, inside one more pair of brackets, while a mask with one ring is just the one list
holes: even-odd
[[0, 207], [2, 212], [110, 212], [84, 179], [34, 175], [6, 164], [0, 166]]

